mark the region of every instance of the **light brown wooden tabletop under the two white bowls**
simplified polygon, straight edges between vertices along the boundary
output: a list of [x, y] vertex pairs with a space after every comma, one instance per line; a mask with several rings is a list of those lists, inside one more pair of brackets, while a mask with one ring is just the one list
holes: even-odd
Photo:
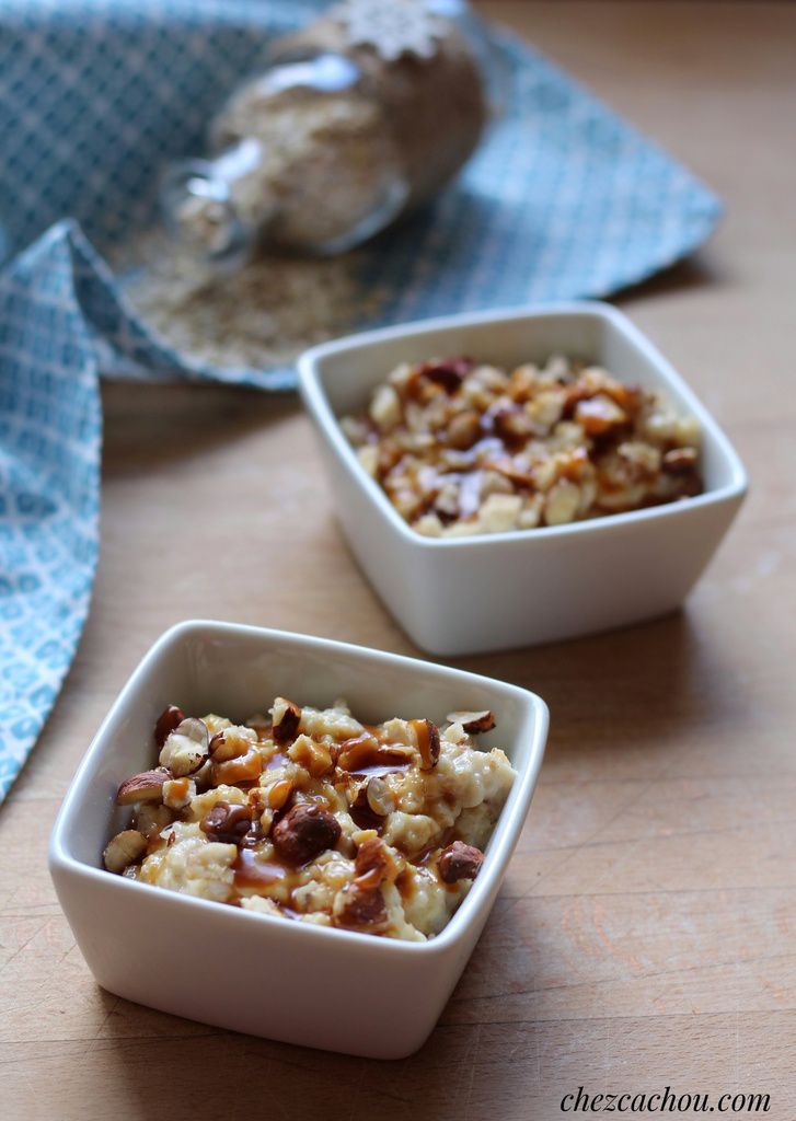
[[796, 7], [489, 9], [726, 200], [707, 248], [619, 303], [729, 430], [751, 497], [682, 614], [460, 663], [547, 700], [547, 757], [431, 1041], [399, 1064], [364, 1062], [118, 1000], [58, 909], [53, 818], [166, 627], [212, 615], [416, 652], [341, 540], [295, 399], [108, 389], [91, 619], [0, 812], [8, 1121], [549, 1121], [581, 1085], [768, 1093], [769, 1117], [796, 1115]]

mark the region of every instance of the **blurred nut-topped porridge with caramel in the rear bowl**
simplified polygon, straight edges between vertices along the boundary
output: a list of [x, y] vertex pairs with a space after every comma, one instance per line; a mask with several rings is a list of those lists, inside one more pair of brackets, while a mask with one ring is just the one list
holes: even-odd
[[693, 417], [561, 355], [513, 370], [405, 363], [341, 424], [396, 510], [429, 537], [562, 526], [703, 489]]

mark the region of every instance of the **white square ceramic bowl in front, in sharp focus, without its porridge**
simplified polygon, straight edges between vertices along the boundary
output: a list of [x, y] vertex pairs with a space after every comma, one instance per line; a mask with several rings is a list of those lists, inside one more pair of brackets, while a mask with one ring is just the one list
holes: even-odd
[[[426, 943], [350, 933], [178, 895], [113, 876], [102, 851], [129, 812], [120, 781], [152, 763], [167, 704], [246, 719], [284, 694], [345, 696], [368, 721], [491, 708], [481, 736], [518, 777], [481, 872], [445, 929]], [[220, 622], [185, 622], [144, 658], [96, 733], [61, 808], [50, 873], [99, 983], [165, 1012], [286, 1043], [400, 1058], [426, 1039], [472, 952], [530, 805], [547, 735], [533, 693], [362, 647]]]

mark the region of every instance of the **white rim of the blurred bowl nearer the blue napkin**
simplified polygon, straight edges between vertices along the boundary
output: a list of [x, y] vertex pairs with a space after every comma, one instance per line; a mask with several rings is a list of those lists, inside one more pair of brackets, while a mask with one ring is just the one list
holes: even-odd
[[[378, 482], [372, 479], [359, 462], [353, 447], [345, 438], [343, 429], [330, 404], [326, 390], [321, 379], [322, 363], [336, 354], [378, 348], [382, 343], [397, 339], [415, 339], [424, 334], [439, 331], [455, 331], [463, 326], [480, 326], [491, 323], [509, 323], [522, 319], [542, 319], [547, 317], [594, 317], [610, 324], [622, 334], [655, 367], [656, 376], [661, 385], [673, 387], [685, 400], [686, 406], [700, 423], [703, 438], [712, 441], [714, 447], [723, 456], [731, 474], [730, 482], [712, 488], [689, 498], [686, 502], [667, 502], [661, 506], [648, 507], [642, 510], [628, 510], [610, 513], [601, 518], [586, 518], [583, 521], [570, 522], [565, 526], [537, 526], [534, 529], [511, 529], [501, 534], [473, 534], [470, 537], [426, 537], [413, 529], [395, 509]], [[372, 501], [373, 507], [389, 525], [390, 529], [411, 546], [422, 549], [455, 549], [488, 548], [503, 543], [535, 541], [542, 546], [545, 541], [555, 543], [572, 536], [611, 532], [633, 525], [644, 525], [660, 518], [670, 518], [685, 510], [700, 510], [726, 501], [740, 500], [746, 494], [749, 480], [741, 458], [719, 423], [696, 396], [686, 380], [664, 356], [657, 346], [640, 331], [639, 327], [618, 308], [601, 300], [559, 300], [546, 304], [534, 304], [527, 307], [497, 308], [485, 312], [465, 312], [457, 315], [437, 316], [428, 319], [416, 319], [390, 327], [379, 327], [355, 334], [334, 339], [330, 342], [312, 346], [298, 358], [298, 388], [304, 404], [314, 418], [317, 427], [330, 447], [343, 464], [352, 481]]]

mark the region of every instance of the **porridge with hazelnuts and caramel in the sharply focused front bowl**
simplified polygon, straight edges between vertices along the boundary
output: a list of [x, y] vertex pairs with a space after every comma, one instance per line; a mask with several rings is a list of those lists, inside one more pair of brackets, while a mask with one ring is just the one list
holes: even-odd
[[277, 697], [243, 724], [169, 706], [157, 766], [119, 787], [130, 826], [109, 871], [322, 926], [425, 941], [478, 876], [516, 777], [478, 736], [491, 712], [443, 728], [361, 723], [342, 701]]

